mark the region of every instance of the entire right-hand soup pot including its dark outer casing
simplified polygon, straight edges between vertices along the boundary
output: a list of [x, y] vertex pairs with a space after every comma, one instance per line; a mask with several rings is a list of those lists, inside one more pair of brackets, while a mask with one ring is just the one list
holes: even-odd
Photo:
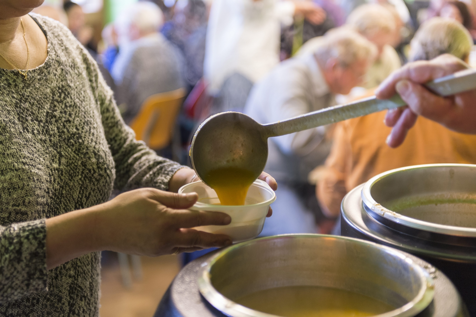
[[476, 165], [419, 165], [377, 175], [342, 201], [341, 233], [432, 263], [476, 316]]

